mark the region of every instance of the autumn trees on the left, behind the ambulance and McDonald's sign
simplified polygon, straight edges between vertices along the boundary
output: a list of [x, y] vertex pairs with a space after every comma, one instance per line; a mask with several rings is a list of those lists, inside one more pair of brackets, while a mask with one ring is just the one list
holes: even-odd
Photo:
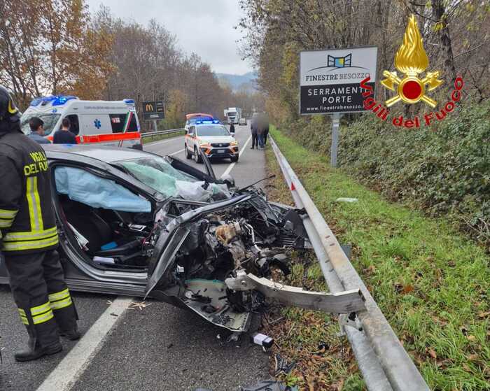
[[181, 127], [186, 113], [221, 118], [225, 107], [260, 105], [257, 92], [235, 93], [220, 83], [155, 20], [121, 20], [104, 6], [91, 14], [83, 0], [1, 1], [0, 83], [22, 110], [48, 94], [132, 98], [138, 109], [141, 101], [163, 99], [165, 128]]

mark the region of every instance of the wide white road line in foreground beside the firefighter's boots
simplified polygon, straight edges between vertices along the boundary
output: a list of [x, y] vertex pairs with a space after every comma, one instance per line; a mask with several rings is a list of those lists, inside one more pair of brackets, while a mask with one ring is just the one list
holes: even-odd
[[116, 298], [36, 391], [69, 391], [102, 348], [108, 333], [133, 301], [132, 297]]

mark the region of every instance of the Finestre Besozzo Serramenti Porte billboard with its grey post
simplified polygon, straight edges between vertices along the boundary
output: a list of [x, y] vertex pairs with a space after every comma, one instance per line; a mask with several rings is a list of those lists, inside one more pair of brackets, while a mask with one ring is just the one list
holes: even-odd
[[343, 113], [367, 111], [360, 82], [376, 83], [377, 47], [300, 52], [300, 114], [332, 115], [330, 164], [337, 166], [339, 123]]

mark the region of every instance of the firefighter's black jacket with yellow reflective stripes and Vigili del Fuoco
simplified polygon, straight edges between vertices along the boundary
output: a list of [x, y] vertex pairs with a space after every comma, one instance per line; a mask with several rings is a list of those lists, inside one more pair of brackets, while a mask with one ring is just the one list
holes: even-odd
[[56, 248], [48, 159], [41, 145], [20, 131], [0, 135], [0, 241], [9, 253]]

